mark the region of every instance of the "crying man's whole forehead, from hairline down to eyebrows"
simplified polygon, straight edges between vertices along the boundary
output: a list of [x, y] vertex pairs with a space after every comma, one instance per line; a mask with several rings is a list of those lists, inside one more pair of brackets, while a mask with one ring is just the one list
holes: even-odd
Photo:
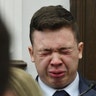
[[34, 44], [52, 46], [52, 44], [61, 46], [72, 44], [75, 40], [74, 34], [70, 28], [61, 28], [58, 30], [44, 30], [34, 32]]

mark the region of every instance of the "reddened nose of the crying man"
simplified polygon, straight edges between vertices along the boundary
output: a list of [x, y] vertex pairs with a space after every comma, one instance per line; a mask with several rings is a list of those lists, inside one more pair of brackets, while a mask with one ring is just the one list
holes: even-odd
[[58, 67], [62, 65], [62, 59], [58, 53], [52, 54], [52, 59], [50, 62], [51, 66]]

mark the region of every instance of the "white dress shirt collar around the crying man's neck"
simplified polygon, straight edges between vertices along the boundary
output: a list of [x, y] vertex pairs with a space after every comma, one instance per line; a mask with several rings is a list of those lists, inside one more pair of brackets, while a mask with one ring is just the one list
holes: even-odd
[[[43, 91], [43, 96], [52, 96], [57, 89], [53, 89], [43, 83], [40, 78], [38, 78], [38, 83]], [[75, 80], [68, 85], [67, 87], [59, 90], [65, 90], [70, 96], [78, 96], [79, 95], [79, 75], [77, 73]]]

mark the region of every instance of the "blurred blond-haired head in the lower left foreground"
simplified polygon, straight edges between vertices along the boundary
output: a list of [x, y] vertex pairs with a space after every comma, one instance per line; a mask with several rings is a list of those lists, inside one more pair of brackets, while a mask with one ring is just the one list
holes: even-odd
[[23, 69], [11, 67], [3, 96], [42, 96], [37, 82]]

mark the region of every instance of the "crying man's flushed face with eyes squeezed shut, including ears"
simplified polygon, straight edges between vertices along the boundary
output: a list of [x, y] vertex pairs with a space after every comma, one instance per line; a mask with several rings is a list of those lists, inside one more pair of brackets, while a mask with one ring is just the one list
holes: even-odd
[[77, 44], [70, 28], [35, 31], [33, 43], [31, 59], [45, 84], [62, 88], [75, 79], [83, 43]]

